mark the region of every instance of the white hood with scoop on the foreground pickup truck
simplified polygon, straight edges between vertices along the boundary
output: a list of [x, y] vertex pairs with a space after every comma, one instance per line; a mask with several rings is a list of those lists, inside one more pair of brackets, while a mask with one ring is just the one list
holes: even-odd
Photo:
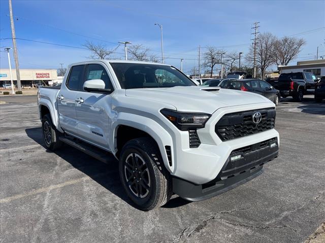
[[175, 106], [178, 111], [208, 114], [212, 114], [221, 107], [265, 102], [270, 102], [270, 106], [273, 104], [261, 95], [219, 87], [176, 86], [172, 88], [128, 89], [125, 95], [170, 104]]

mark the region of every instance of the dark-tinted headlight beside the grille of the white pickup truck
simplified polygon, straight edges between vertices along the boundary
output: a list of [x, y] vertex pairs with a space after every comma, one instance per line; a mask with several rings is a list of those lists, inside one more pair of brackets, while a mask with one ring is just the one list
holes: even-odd
[[191, 128], [204, 128], [204, 125], [211, 116], [206, 113], [177, 112], [170, 109], [162, 109], [160, 112], [182, 131], [187, 131]]

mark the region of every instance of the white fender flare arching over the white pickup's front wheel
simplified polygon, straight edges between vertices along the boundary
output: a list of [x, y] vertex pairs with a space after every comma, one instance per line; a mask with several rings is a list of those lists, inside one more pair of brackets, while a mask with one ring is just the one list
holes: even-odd
[[110, 139], [111, 151], [115, 154], [117, 152], [117, 129], [119, 126], [124, 125], [132, 128], [139, 129], [141, 131], [146, 132], [149, 134], [157, 143], [161, 157], [163, 158], [164, 165], [166, 169], [173, 173], [175, 169], [175, 161], [174, 156], [172, 154], [172, 166], [170, 166], [167, 153], [165, 150], [165, 146], [171, 146], [171, 151], [173, 150], [173, 140], [171, 135], [161, 127], [156, 121], [150, 119], [145, 116], [131, 114], [131, 113], [124, 113], [121, 112], [116, 117], [116, 120], [113, 121], [112, 124], [112, 136]]

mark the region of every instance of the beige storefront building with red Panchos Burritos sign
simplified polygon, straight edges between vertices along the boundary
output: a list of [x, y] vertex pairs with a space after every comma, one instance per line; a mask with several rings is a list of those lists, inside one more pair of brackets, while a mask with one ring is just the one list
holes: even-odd
[[[57, 80], [56, 69], [20, 69], [20, 82], [23, 88], [34, 88], [35, 85], [52, 85]], [[12, 69], [14, 85], [17, 86], [16, 70]], [[0, 87], [11, 84], [10, 70], [0, 69]]]

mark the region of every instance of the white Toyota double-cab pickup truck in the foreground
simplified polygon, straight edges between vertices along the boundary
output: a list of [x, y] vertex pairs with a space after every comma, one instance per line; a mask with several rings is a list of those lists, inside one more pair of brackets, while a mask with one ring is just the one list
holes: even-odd
[[273, 102], [196, 86], [165, 64], [72, 64], [60, 87], [40, 88], [38, 107], [46, 147], [68, 144], [102, 161], [113, 154], [141, 210], [163, 206], [173, 193], [192, 201], [218, 195], [278, 155]]

